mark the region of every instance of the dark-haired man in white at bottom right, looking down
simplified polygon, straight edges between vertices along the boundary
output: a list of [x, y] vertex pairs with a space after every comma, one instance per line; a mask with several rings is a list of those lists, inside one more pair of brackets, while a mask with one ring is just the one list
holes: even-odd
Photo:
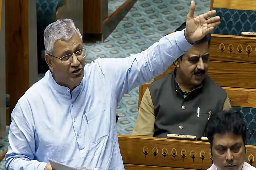
[[241, 114], [230, 109], [213, 114], [207, 138], [214, 164], [208, 170], [256, 170], [245, 162], [249, 131]]

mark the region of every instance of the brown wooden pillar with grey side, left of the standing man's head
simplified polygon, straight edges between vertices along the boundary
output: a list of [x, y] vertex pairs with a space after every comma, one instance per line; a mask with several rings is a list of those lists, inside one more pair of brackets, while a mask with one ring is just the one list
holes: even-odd
[[37, 81], [37, 25], [35, 0], [5, 1], [6, 87], [10, 112], [19, 98]]

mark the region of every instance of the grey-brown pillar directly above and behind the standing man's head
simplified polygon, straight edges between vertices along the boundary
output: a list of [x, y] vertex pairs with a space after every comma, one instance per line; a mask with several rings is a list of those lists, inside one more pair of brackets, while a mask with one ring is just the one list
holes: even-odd
[[56, 19], [71, 18], [83, 37], [83, 0], [65, 0], [57, 10]]

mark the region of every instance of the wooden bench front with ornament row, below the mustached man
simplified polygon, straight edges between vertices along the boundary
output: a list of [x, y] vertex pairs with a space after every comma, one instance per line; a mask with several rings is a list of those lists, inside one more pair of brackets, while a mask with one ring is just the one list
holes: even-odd
[[[209, 142], [125, 135], [118, 135], [118, 142], [124, 164], [198, 170], [205, 170], [212, 165]], [[256, 146], [246, 145], [246, 148], [245, 160], [248, 162], [256, 156]], [[194, 159], [191, 158], [193, 155], [196, 156]], [[256, 166], [256, 163], [252, 163], [252, 166]]]

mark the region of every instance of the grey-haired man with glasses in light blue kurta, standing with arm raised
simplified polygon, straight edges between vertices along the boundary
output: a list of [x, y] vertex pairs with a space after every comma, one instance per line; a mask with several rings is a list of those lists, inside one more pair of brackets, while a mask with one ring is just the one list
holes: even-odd
[[163, 73], [193, 42], [220, 23], [209, 11], [186, 29], [169, 34], [127, 58], [97, 59], [85, 66], [86, 49], [71, 19], [44, 31], [49, 71], [20, 98], [12, 112], [8, 170], [51, 170], [48, 159], [73, 167], [124, 170], [116, 132], [116, 107], [128, 93]]

